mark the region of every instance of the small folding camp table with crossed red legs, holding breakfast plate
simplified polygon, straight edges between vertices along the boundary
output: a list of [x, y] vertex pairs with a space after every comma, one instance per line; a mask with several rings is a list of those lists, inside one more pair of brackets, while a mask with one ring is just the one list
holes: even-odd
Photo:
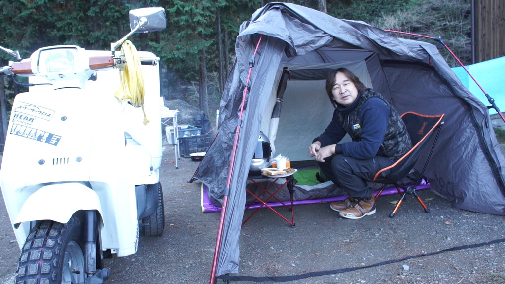
[[[277, 214], [279, 217], [284, 219], [284, 221], [288, 222], [291, 225], [291, 227], [294, 227], [295, 225], [294, 225], [294, 209], [293, 209], [293, 193], [294, 193], [293, 174], [294, 174], [294, 172], [286, 173], [286, 174], [279, 174], [279, 175], [263, 175], [263, 174], [248, 175], [247, 179], [252, 181], [254, 184], [256, 184], [258, 186], [258, 188], [260, 188], [261, 193], [259, 195], [255, 195], [254, 193], [249, 191], [247, 188], [245, 188], [245, 191], [249, 195], [254, 197], [259, 203], [261, 203], [261, 206], [258, 207], [254, 212], [252, 212], [252, 214], [249, 215], [249, 217], [247, 217], [247, 219], [245, 219], [245, 221], [242, 222], [242, 225], [245, 224], [247, 221], [249, 221], [249, 219], [252, 216], [254, 216], [260, 209], [262, 209], [263, 207], [267, 207], [270, 210], [272, 210], [273, 212], [275, 212], [275, 214]], [[281, 178], [285, 178], [285, 181], [280, 185], [279, 188], [277, 188], [277, 190], [274, 193], [270, 193], [269, 192], [270, 188], [272, 188], [272, 186], [277, 182], [277, 180], [279, 180]], [[261, 185], [260, 181], [267, 181], [267, 185], [266, 186]], [[280, 201], [277, 197], [275, 197], [275, 195], [277, 195], [284, 187], [286, 187], [287, 190], [289, 191], [289, 196], [291, 197], [290, 205], [286, 205], [284, 202]], [[261, 197], [267, 196], [267, 195], [269, 195], [269, 197], [265, 201], [263, 201], [261, 199]], [[275, 210], [271, 205], [268, 204], [270, 202], [270, 200], [272, 200], [272, 199], [275, 199], [283, 207], [285, 207], [285, 208], [289, 209], [289, 211], [291, 211], [291, 221], [289, 221], [286, 217], [282, 216], [277, 210]], [[254, 203], [248, 204], [245, 207], [245, 209], [249, 209], [253, 204]]]

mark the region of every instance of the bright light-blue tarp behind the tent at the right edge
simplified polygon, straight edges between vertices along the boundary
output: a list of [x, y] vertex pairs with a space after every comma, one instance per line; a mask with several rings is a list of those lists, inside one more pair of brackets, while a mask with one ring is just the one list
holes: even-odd
[[[494, 99], [494, 103], [500, 110], [505, 111], [505, 89], [501, 85], [505, 81], [505, 56], [499, 57], [472, 65], [465, 66], [470, 74], [479, 82], [481, 87]], [[461, 82], [477, 97], [484, 105], [490, 106], [484, 92], [474, 82], [461, 66], [453, 67], [452, 70], [460, 78]], [[489, 110], [489, 114], [496, 114], [494, 109]]]

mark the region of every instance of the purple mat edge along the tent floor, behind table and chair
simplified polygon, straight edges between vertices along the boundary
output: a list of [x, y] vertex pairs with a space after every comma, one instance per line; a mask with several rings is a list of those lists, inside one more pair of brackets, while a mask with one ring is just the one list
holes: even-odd
[[[420, 190], [426, 190], [428, 188], [431, 188], [430, 184], [422, 184], [417, 187], [417, 191]], [[207, 195], [207, 185], [201, 184], [201, 211], [202, 212], [221, 212], [221, 207], [220, 206], [215, 206], [214, 204], [211, 203], [209, 196]], [[379, 191], [376, 191], [374, 194], [377, 194]], [[397, 194], [398, 191], [396, 190], [396, 187], [388, 187], [386, 188], [381, 195], [390, 195], [390, 194]], [[332, 198], [323, 198], [323, 199], [311, 199], [311, 200], [298, 200], [298, 201], [293, 201], [293, 205], [299, 205], [299, 204], [312, 204], [312, 203], [321, 203], [321, 202], [335, 202], [335, 201], [340, 201], [344, 200], [347, 198], [347, 196], [337, 196], [337, 197], [332, 197]], [[269, 202], [267, 203], [271, 207], [278, 207], [282, 206], [282, 203], [280, 202]], [[261, 206], [261, 203], [253, 203], [253, 204], [246, 204], [245, 206], [248, 206], [247, 209], [257, 209]]]

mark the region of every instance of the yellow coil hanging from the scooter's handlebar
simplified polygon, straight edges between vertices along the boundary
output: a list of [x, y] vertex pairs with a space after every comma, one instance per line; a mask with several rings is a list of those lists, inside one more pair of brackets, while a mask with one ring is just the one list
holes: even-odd
[[142, 108], [144, 125], [149, 123], [144, 110], [144, 78], [140, 72], [140, 59], [137, 50], [131, 41], [126, 40], [121, 45], [121, 53], [125, 56], [126, 65], [120, 72], [121, 87], [116, 92], [116, 97], [121, 101], [128, 101], [136, 108]]

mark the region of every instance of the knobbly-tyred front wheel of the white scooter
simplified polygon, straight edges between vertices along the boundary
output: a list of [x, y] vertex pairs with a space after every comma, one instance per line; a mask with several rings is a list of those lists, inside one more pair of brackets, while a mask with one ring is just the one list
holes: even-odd
[[81, 221], [43, 221], [30, 230], [21, 251], [16, 283], [83, 283], [85, 260]]

